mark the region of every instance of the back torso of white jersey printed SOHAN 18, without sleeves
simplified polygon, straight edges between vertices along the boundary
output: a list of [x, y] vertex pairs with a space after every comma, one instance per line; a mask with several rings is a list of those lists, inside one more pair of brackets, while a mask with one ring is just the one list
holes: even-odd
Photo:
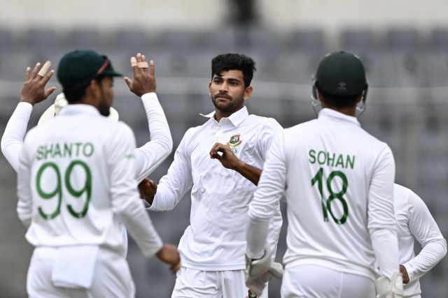
[[374, 278], [367, 207], [375, 200], [369, 191], [379, 161], [391, 154], [388, 146], [355, 117], [324, 109], [318, 119], [286, 129], [283, 148], [286, 266], [323, 265]]

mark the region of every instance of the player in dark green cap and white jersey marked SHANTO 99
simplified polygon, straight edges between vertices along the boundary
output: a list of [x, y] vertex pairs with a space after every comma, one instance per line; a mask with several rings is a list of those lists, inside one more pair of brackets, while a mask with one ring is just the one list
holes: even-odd
[[[143, 59], [137, 57], [146, 64]], [[34, 102], [48, 96], [44, 88], [52, 75], [38, 75], [38, 68], [32, 73], [27, 68], [22, 89], [22, 97], [34, 97]], [[147, 64], [136, 68], [134, 78], [148, 72]], [[157, 254], [172, 267], [179, 264], [176, 248], [162, 244], [139, 201], [131, 129], [104, 117], [118, 75], [96, 52], [65, 54], [57, 77], [69, 105], [25, 137], [18, 215], [35, 246], [27, 276], [31, 298], [134, 297], [120, 222], [144, 255]], [[134, 90], [139, 84], [125, 80]]]

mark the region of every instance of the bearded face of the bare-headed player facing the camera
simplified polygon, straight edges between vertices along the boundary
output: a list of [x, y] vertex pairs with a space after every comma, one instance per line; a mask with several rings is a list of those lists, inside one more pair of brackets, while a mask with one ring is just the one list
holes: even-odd
[[244, 87], [241, 70], [223, 70], [214, 75], [209, 83], [211, 101], [216, 110], [221, 112], [235, 112], [239, 110], [244, 100], [251, 96], [252, 87]]

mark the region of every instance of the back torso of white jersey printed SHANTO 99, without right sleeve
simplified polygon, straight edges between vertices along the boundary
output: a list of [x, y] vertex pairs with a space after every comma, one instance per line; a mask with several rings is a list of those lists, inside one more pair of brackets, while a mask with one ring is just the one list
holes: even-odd
[[109, 141], [128, 131], [125, 124], [102, 117], [90, 105], [69, 105], [30, 131], [24, 148], [31, 168], [31, 244], [122, 249], [109, 171], [116, 148], [109, 147]]

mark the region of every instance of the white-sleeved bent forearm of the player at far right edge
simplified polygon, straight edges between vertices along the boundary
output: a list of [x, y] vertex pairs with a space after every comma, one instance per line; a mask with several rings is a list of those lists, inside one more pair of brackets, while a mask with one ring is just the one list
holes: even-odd
[[403, 264], [409, 275], [409, 281], [420, 278], [447, 254], [447, 241], [434, 239], [429, 241], [412, 260]]

